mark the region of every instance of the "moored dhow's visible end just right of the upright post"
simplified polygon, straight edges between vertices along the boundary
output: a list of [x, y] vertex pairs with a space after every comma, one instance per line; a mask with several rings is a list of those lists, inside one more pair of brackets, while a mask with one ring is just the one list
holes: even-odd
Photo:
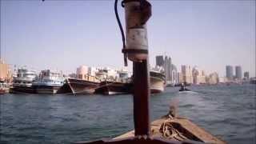
[[162, 93], [166, 87], [166, 77], [160, 71], [150, 70], [150, 92]]

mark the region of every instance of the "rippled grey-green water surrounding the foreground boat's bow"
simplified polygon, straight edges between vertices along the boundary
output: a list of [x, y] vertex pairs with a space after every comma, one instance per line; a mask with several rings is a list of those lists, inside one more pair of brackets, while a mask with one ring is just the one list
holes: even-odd
[[[151, 121], [168, 112], [190, 118], [229, 143], [256, 143], [255, 85], [177, 87], [150, 97]], [[131, 95], [1, 95], [0, 143], [70, 143], [134, 129]]]

